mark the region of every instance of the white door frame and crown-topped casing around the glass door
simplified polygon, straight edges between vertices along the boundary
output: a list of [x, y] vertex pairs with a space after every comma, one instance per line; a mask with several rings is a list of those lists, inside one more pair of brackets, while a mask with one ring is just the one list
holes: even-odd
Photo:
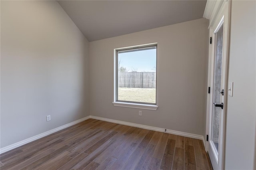
[[[220, 135], [222, 138], [220, 141], [218, 168], [215, 169], [224, 169], [224, 158], [225, 158], [225, 138], [226, 138], [226, 108], [227, 108], [227, 95], [228, 95], [228, 61], [229, 61], [229, 29], [230, 29], [230, 1], [229, 0], [208, 0], [206, 4], [206, 10], [204, 12], [204, 17], [210, 19], [209, 24], [209, 39], [212, 37], [212, 42], [214, 42], [214, 32], [219, 27], [218, 24], [223, 20], [223, 78], [222, 82], [224, 85], [224, 108], [221, 113], [220, 123]], [[223, 17], [224, 16], [224, 17]], [[214, 30], [213, 30], [214, 29]], [[207, 96], [207, 113], [206, 113], [206, 135], [210, 137], [210, 127], [212, 123], [212, 107], [213, 107], [213, 76], [214, 76], [214, 52], [215, 47], [214, 43], [209, 44], [209, 54], [208, 54], [208, 87], [211, 87], [210, 94]], [[206, 141], [206, 151], [210, 149], [210, 142]], [[216, 157], [215, 157], [216, 158]], [[213, 164], [214, 166], [214, 164]], [[216, 166], [216, 165], [215, 165]]]

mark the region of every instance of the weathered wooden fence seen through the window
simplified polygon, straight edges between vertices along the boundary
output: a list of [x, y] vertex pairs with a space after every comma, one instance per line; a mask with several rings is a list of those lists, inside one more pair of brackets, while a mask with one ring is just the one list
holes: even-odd
[[118, 72], [118, 87], [156, 88], [156, 72]]

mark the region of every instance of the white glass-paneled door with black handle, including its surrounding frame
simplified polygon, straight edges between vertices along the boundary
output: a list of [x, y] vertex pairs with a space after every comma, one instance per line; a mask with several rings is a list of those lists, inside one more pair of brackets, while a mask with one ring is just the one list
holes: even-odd
[[208, 82], [211, 88], [208, 96], [208, 151], [214, 170], [224, 169], [224, 136], [227, 95], [227, 57], [228, 57], [228, 2], [224, 2], [210, 28], [212, 44], [209, 50]]

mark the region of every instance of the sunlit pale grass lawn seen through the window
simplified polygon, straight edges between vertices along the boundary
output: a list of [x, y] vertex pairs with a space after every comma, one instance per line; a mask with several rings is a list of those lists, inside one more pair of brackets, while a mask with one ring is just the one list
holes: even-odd
[[119, 87], [118, 100], [156, 103], [156, 89]]

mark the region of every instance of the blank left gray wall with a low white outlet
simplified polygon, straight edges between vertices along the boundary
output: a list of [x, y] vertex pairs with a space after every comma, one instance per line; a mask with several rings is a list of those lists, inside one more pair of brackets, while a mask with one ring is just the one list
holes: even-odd
[[1, 0], [1, 148], [90, 115], [88, 86], [88, 41], [58, 2]]

